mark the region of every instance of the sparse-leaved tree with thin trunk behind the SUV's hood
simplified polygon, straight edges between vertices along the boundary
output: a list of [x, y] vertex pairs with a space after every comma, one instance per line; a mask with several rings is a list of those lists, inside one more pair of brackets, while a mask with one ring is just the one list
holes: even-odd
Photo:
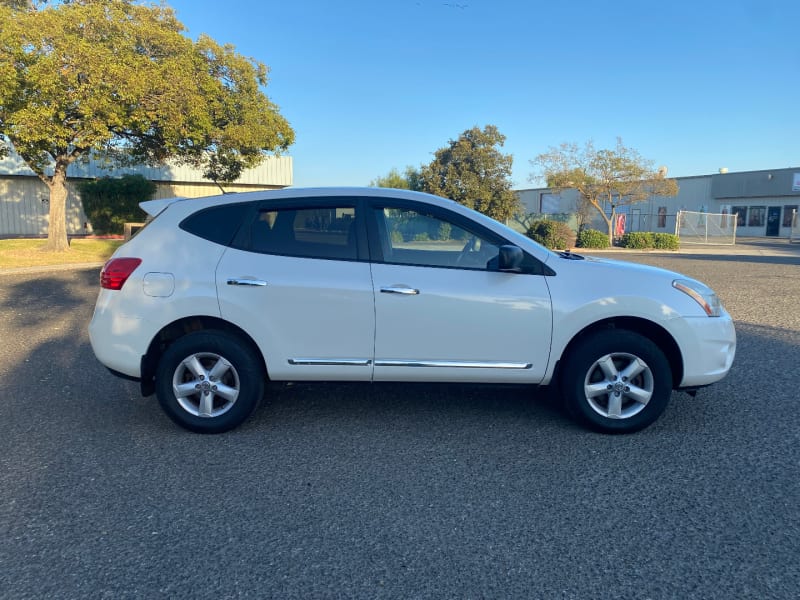
[[642, 158], [617, 138], [613, 150], [596, 150], [592, 142], [583, 148], [564, 143], [531, 161], [538, 172], [531, 181], [543, 178], [547, 187], [576, 189], [581, 200], [591, 205], [608, 227], [613, 242], [617, 209], [643, 202], [650, 196], [675, 196], [678, 184], [665, 171]]

